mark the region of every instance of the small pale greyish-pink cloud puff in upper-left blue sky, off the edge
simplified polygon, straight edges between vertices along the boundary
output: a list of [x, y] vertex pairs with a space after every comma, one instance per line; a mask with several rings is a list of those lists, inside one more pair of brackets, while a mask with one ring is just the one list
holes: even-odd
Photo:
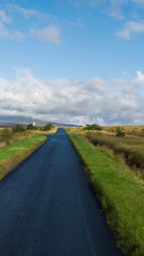
[[31, 28], [31, 36], [44, 43], [59, 43], [59, 28], [55, 26], [47, 26], [41, 30]]

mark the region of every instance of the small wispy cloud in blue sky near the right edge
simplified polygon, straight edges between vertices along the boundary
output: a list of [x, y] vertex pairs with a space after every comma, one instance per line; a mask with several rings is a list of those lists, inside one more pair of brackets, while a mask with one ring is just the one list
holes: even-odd
[[144, 21], [127, 21], [124, 24], [124, 29], [122, 31], [116, 32], [115, 35], [119, 38], [129, 40], [131, 38], [131, 33], [144, 33]]

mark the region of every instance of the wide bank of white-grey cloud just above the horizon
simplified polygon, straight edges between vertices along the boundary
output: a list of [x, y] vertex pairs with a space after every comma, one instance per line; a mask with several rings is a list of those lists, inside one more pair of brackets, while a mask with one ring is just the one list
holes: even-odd
[[143, 124], [144, 75], [132, 80], [34, 78], [28, 69], [17, 69], [14, 81], [0, 78], [0, 115], [24, 115], [45, 121], [85, 125]]

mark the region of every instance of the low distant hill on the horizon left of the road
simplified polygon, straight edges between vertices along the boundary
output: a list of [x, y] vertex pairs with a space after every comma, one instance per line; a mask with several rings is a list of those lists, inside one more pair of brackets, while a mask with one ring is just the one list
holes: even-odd
[[21, 123], [23, 126], [27, 126], [30, 123], [35, 123], [36, 126], [45, 126], [46, 124], [52, 124], [55, 127], [77, 127], [79, 125], [73, 124], [59, 124], [53, 122], [41, 121], [39, 119], [27, 118], [22, 116], [17, 117], [1, 117], [0, 116], [0, 127], [14, 127], [15, 124]]

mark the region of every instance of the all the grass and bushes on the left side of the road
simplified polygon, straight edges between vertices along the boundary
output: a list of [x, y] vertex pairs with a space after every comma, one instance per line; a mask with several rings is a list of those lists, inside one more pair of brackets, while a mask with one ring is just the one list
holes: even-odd
[[[40, 135], [55, 134], [56, 127], [46, 126], [36, 130], [26, 130], [20, 124], [13, 128], [0, 129], [0, 179], [7, 173], [8, 169], [17, 162], [25, 159], [47, 138]], [[47, 130], [46, 130], [47, 129]]]

